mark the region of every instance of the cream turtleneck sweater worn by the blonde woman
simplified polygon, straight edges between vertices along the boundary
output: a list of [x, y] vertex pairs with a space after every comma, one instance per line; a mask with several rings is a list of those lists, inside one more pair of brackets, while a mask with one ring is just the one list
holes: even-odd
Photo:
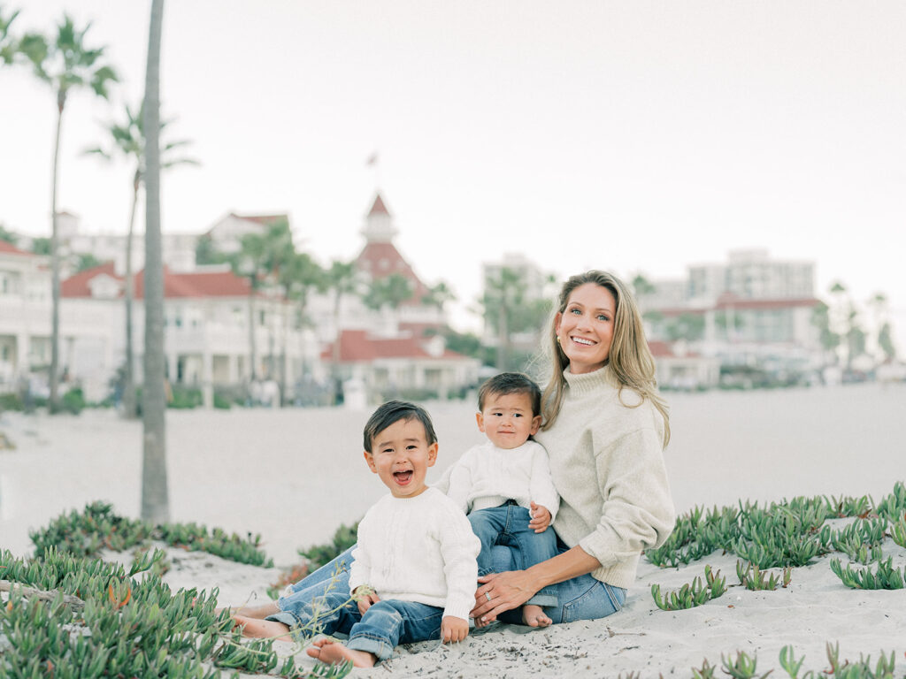
[[560, 415], [535, 435], [560, 493], [554, 531], [601, 562], [594, 578], [629, 588], [641, 551], [667, 540], [676, 519], [663, 418], [650, 400], [621, 392], [607, 366], [584, 375], [567, 368], [564, 377]]

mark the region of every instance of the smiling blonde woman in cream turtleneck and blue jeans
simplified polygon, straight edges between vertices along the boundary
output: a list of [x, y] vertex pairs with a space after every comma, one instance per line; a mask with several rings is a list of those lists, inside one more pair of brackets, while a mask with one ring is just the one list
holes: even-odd
[[[482, 622], [533, 598], [554, 623], [619, 611], [642, 550], [658, 547], [675, 511], [664, 468], [670, 440], [667, 406], [641, 314], [626, 286], [590, 271], [564, 283], [550, 322], [552, 373], [543, 395], [544, 424], [535, 435], [550, 458], [560, 511], [559, 554], [510, 570], [496, 547], [495, 574], [479, 578], [472, 615]], [[555, 600], [535, 597], [540, 590]]]

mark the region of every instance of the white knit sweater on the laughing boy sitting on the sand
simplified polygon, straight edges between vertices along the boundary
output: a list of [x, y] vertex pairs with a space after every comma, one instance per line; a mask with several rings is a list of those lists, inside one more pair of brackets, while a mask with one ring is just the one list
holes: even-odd
[[466, 515], [444, 493], [388, 494], [359, 523], [349, 588], [369, 585], [381, 599], [417, 601], [467, 620], [480, 550]]

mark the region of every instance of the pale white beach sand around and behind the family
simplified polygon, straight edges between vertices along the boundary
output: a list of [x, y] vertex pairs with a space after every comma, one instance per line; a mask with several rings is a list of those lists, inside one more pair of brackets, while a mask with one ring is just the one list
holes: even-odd
[[[866, 385], [670, 397], [673, 442], [667, 453], [680, 511], [738, 499], [795, 495], [862, 495], [875, 500], [906, 479], [901, 414], [906, 388]], [[441, 441], [438, 467], [480, 440], [473, 409], [430, 406]], [[171, 412], [168, 466], [174, 520], [229, 531], [261, 532], [278, 563], [299, 546], [324, 541], [340, 521], [361, 517], [382, 487], [361, 462], [367, 413], [345, 410]], [[29, 527], [85, 502], [105, 499], [122, 513], [138, 511], [140, 424], [109, 413], [72, 417], [0, 416], [17, 449], [0, 452], [0, 547], [25, 553]], [[448, 455], [448, 456], [445, 456]], [[906, 550], [886, 540], [885, 558], [906, 566]], [[795, 569], [786, 589], [750, 592], [737, 586], [736, 557], [714, 554], [682, 569], [657, 569], [642, 559], [639, 579], [621, 613], [525, 633], [495, 626], [458, 646], [400, 647], [393, 659], [358, 676], [582, 677], [663, 674], [687, 677], [707, 658], [757, 654], [758, 672], [775, 669], [782, 646], [805, 654], [805, 670], [827, 667], [825, 643], [841, 658], [876, 661], [895, 651], [906, 667], [906, 590], [855, 591], [828, 568], [831, 555]], [[219, 600], [263, 598], [274, 569], [256, 569], [202, 554], [171, 557], [176, 587], [220, 588]], [[177, 562], [178, 561], [178, 562]], [[664, 612], [652, 583], [679, 588], [721, 569], [733, 585], [722, 598]], [[292, 646], [278, 645], [284, 653]], [[303, 658], [301, 655], [300, 658]], [[300, 661], [302, 662], [302, 661]], [[308, 662], [305, 660], [304, 662]], [[718, 671], [718, 675], [723, 675]]]

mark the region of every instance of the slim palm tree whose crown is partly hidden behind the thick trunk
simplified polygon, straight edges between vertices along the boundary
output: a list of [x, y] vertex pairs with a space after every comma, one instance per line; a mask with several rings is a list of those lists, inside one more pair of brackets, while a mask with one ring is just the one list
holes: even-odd
[[[144, 106], [140, 106], [138, 113], [130, 110], [125, 106], [126, 118], [121, 123], [111, 123], [107, 126], [113, 142], [110, 150], [103, 148], [90, 148], [86, 153], [95, 153], [102, 158], [110, 160], [114, 154], [120, 154], [129, 158], [135, 164], [135, 171], [132, 175], [132, 201], [129, 215], [129, 232], [126, 235], [126, 290], [125, 290], [125, 307], [126, 307], [126, 361], [123, 373], [123, 397], [122, 409], [123, 416], [132, 419], [136, 415], [135, 408], [135, 371], [133, 368], [134, 349], [132, 343], [132, 299], [135, 293], [135, 282], [132, 277], [132, 237], [135, 231], [135, 211], [139, 203], [139, 189], [145, 168], [145, 126]], [[171, 122], [162, 120], [160, 130]], [[160, 149], [160, 168], [168, 169], [177, 165], [198, 165], [198, 161], [192, 158], [163, 158], [165, 154], [171, 154], [176, 148], [185, 147], [189, 144], [188, 140], [182, 139], [172, 141]]]

